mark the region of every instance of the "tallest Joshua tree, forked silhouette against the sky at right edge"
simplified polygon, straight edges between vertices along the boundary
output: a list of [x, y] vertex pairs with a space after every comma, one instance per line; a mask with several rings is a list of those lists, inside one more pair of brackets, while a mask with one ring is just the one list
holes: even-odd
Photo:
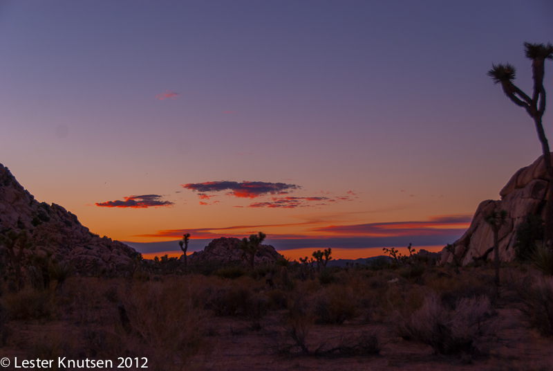
[[[551, 164], [551, 155], [541, 118], [545, 112], [545, 88], [543, 87], [543, 73], [545, 60], [553, 60], [553, 45], [530, 44], [524, 43], [525, 54], [529, 60], [532, 60], [532, 80], [534, 80], [534, 91], [532, 98], [527, 96], [524, 91], [518, 89], [513, 80], [515, 78], [516, 69], [512, 64], [491, 64], [491, 70], [488, 71], [489, 77], [494, 81], [494, 84], [501, 84], [503, 92], [509, 97], [512, 102], [518, 107], [523, 107], [530, 117], [534, 120], [538, 138], [541, 142], [543, 152], [543, 161], [545, 170], [549, 175], [549, 193], [553, 194], [553, 166]], [[547, 201], [545, 206], [545, 232], [544, 242], [553, 240], [553, 202]]]

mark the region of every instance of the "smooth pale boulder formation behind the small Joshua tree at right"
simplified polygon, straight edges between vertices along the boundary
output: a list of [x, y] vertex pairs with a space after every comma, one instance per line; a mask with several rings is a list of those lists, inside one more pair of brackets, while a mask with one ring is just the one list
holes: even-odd
[[[543, 156], [540, 156], [532, 165], [518, 170], [511, 177], [507, 185], [499, 192], [500, 200], [482, 201], [476, 209], [467, 232], [453, 242], [458, 261], [462, 265], [469, 264], [474, 261], [474, 258], [485, 257], [487, 251], [493, 248], [494, 233], [484, 219], [491, 210], [507, 211], [507, 220], [498, 234], [499, 257], [502, 261], [514, 260], [514, 244], [518, 226], [524, 223], [529, 214], [545, 217], [545, 203], [549, 199], [547, 193], [549, 181]], [[487, 259], [493, 259], [493, 256], [493, 253], [489, 253]], [[453, 255], [444, 248], [440, 263], [452, 261]]]

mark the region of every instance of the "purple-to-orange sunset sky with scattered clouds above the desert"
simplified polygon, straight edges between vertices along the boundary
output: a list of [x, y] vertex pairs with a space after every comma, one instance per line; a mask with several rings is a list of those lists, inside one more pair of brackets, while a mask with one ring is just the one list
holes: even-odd
[[0, 163], [144, 253], [441, 248], [541, 154], [523, 42], [552, 1], [0, 1]]

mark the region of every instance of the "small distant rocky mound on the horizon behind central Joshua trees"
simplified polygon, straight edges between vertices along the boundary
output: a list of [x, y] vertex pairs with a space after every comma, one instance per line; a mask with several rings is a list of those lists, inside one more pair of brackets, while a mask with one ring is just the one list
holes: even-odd
[[[203, 251], [197, 251], [188, 255], [191, 264], [202, 262], [219, 262], [221, 264], [247, 264], [247, 256], [239, 248], [241, 240], [234, 237], [221, 237], [209, 242]], [[259, 245], [259, 251], [255, 255], [254, 264], [276, 262], [283, 256], [274, 250], [271, 245]], [[181, 256], [182, 259], [182, 256]]]

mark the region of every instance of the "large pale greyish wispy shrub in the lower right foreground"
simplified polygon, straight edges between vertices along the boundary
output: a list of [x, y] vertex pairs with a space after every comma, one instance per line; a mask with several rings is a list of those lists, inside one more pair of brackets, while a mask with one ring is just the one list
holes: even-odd
[[411, 316], [395, 316], [397, 335], [426, 343], [436, 354], [486, 354], [494, 334], [494, 311], [486, 296], [462, 298], [451, 310], [431, 293]]

